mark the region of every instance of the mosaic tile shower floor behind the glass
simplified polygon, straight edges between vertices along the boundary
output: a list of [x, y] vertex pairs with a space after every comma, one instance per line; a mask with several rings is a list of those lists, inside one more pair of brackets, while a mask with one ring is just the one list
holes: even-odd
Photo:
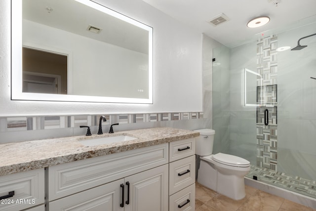
[[272, 169], [260, 169], [253, 165], [250, 166], [250, 171], [246, 176], [249, 178], [257, 176], [259, 181], [316, 198], [315, 180], [308, 180], [299, 176], [292, 176]]

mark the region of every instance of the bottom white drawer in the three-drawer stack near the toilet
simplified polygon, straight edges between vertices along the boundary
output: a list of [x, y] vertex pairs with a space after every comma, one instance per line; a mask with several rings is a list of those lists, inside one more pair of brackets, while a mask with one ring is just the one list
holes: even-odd
[[169, 197], [169, 211], [195, 211], [196, 183]]

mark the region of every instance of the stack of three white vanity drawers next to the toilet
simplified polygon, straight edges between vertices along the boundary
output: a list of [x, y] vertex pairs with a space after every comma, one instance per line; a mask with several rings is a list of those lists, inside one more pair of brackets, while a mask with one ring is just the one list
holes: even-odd
[[169, 211], [195, 211], [195, 138], [169, 143]]

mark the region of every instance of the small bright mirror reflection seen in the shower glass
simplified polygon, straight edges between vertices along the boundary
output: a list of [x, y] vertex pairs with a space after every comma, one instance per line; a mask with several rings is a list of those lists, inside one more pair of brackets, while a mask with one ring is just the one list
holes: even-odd
[[[259, 83], [259, 85], [257, 85]], [[261, 92], [261, 75], [254, 71], [243, 69], [243, 105], [260, 106], [261, 100], [257, 99], [257, 92]], [[258, 103], [257, 103], [258, 102]]]

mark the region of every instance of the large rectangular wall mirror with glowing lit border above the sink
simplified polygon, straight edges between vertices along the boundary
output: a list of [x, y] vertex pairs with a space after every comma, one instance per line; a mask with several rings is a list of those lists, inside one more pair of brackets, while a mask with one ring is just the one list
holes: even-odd
[[12, 0], [12, 100], [153, 103], [153, 28], [91, 0]]

